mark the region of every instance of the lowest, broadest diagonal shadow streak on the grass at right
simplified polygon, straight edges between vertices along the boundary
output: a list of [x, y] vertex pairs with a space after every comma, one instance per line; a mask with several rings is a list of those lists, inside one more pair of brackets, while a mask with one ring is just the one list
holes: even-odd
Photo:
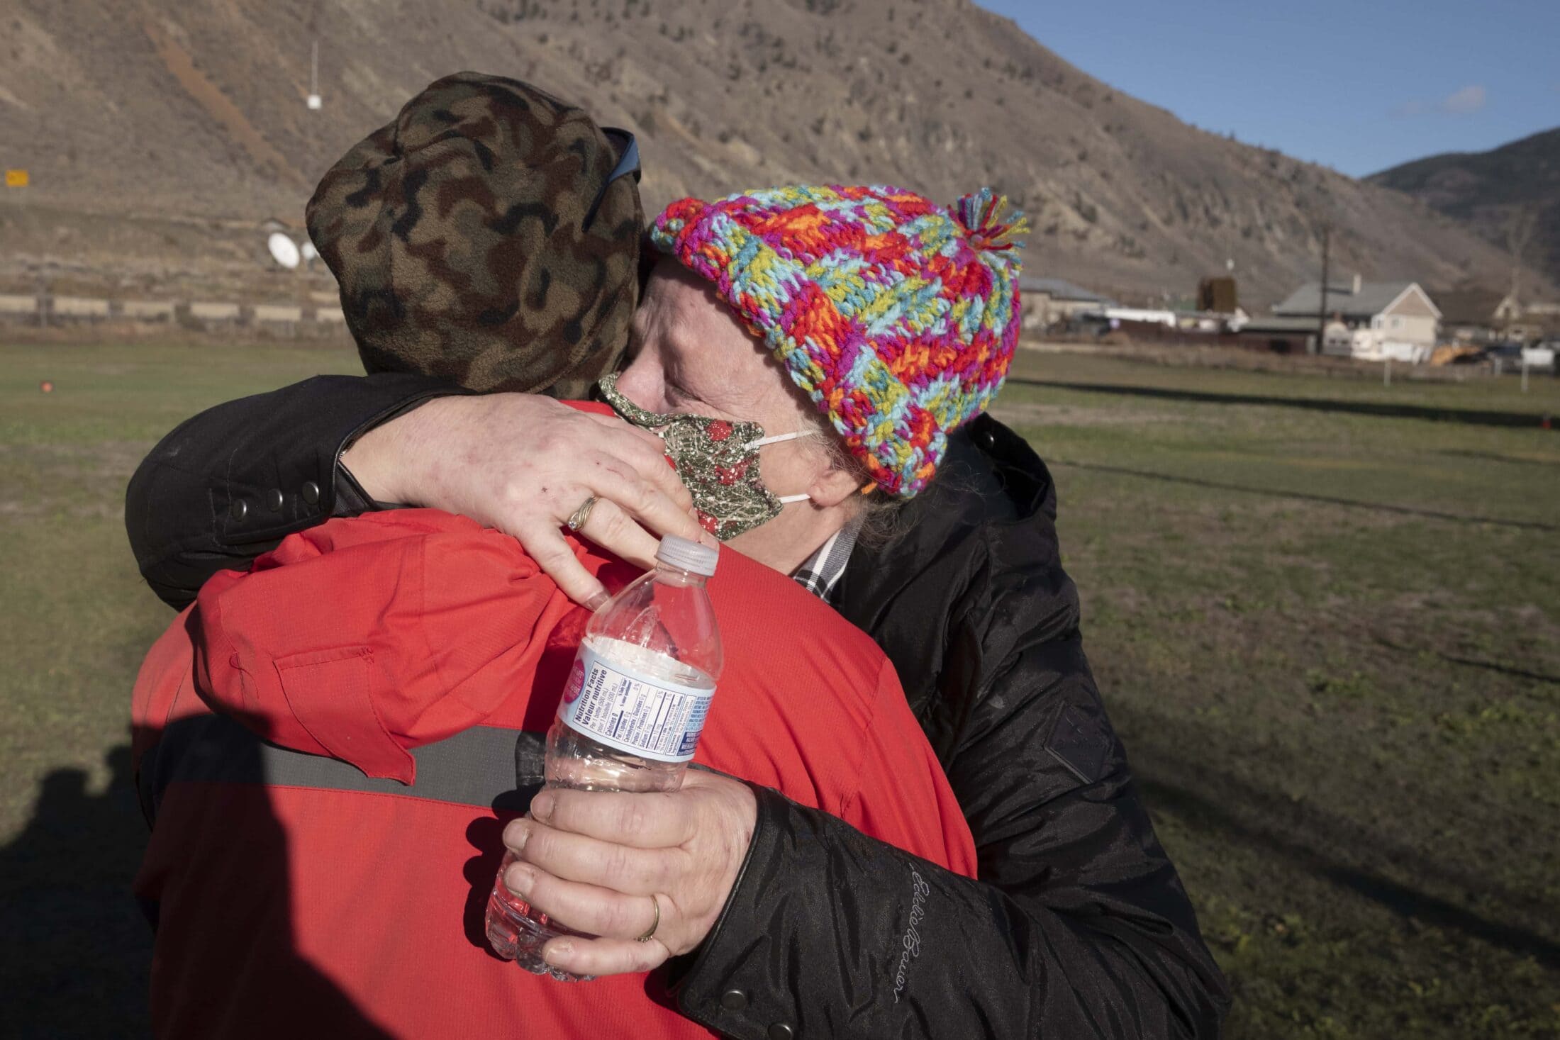
[[[1218, 791], [1229, 795], [1242, 792], [1246, 800], [1250, 800], [1251, 808], [1262, 811], [1265, 817], [1268, 812], [1262, 803], [1278, 801], [1273, 795], [1264, 795], [1262, 792], [1253, 792], [1250, 787], [1243, 787], [1234, 776], [1209, 773], [1206, 769], [1201, 772], [1217, 786]], [[1356, 848], [1371, 848], [1395, 864], [1404, 864], [1418, 876], [1440, 876], [1441, 881], [1457, 884], [1466, 890], [1482, 889], [1512, 904], [1516, 904], [1513, 909], [1524, 912], [1541, 912], [1541, 907], [1538, 906], [1521, 906], [1533, 904], [1537, 903], [1535, 900], [1504, 892], [1499, 887], [1490, 886], [1487, 879], [1457, 876], [1455, 872], [1448, 872], [1440, 868], [1437, 864], [1426, 862], [1412, 851], [1390, 848], [1374, 836], [1363, 833], [1362, 828], [1356, 828], [1342, 820], [1320, 820], [1320, 825], [1317, 826], [1290, 826], [1287, 833], [1278, 833], [1275, 830], [1248, 823], [1225, 805], [1215, 803], [1189, 787], [1161, 780], [1148, 780], [1142, 773], [1137, 775], [1137, 783], [1143, 791], [1150, 809], [1172, 809], [1192, 826], [1214, 831], [1221, 837], [1232, 839], [1243, 845], [1253, 845], [1265, 851], [1276, 853], [1290, 862], [1301, 865], [1309, 873], [1349, 889], [1396, 914], [1398, 917], [1413, 918], [1438, 928], [1459, 931], [1465, 936], [1501, 946], [1516, 956], [1533, 957], [1538, 964], [1548, 968], [1560, 968], [1560, 942], [1554, 942], [1526, 928], [1480, 917], [1473, 911], [1463, 909], [1438, 897], [1398, 884], [1396, 881], [1388, 881], [1387, 878], [1368, 870], [1343, 864], [1320, 850], [1326, 848], [1329, 844], [1340, 842], [1346, 842]], [[1282, 817], [1275, 815], [1273, 819]], [[1321, 837], [1323, 834], [1326, 837]]]

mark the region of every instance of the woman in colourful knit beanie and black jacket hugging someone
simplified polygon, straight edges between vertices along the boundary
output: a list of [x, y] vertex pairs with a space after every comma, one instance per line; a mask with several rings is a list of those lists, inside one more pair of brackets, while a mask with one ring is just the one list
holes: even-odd
[[[1006, 237], [986, 209], [995, 200], [970, 200], [956, 218], [945, 210], [936, 228], [897, 217], [880, 228], [880, 209], [892, 215], [897, 201], [813, 192], [814, 215], [791, 204], [792, 192], [668, 212], [660, 232], [671, 256], [652, 274], [635, 315], [635, 363], [613, 390], [630, 418], [696, 427], [688, 441], [704, 449], [691, 462], [716, 463], [716, 483], [746, 485], [753, 516], [810, 499], [736, 544], [758, 557], [761, 536], [783, 569], [816, 546], [796, 577], [888, 652], [972, 826], [981, 879], [713, 773], [654, 803], [546, 792], [507, 844], [535, 870], [530, 903], [599, 937], [554, 940], [549, 960], [607, 975], [696, 954], [677, 967], [668, 999], [744, 1040], [830, 1034], [838, 1023], [852, 1035], [1218, 1035], [1228, 992], [1090, 675], [1051, 477], [1023, 438], [983, 413], [1012, 348], [997, 268], [1016, 274], [1016, 265], [992, 256]], [[816, 228], [828, 242], [813, 242]], [[860, 256], [836, 262], [839, 243]], [[875, 281], [850, 285], [858, 274]], [[917, 317], [944, 306], [958, 321]], [[906, 334], [863, 341], [885, 323]], [[753, 349], [760, 341], [778, 356]], [[186, 423], [131, 485], [144, 574], [189, 602], [198, 575], [337, 513], [339, 463], [374, 497], [510, 530], [549, 574], [566, 574], [534, 549], [537, 530], [557, 536], [585, 496], [579, 474], [608, 465], [591, 438], [618, 433], [605, 419], [562, 430], [563, 405], [529, 394], [429, 399], [454, 393], [381, 371]], [[900, 423], [908, 438], [895, 435]], [[805, 447], [772, 446], [791, 433]], [[738, 438], [741, 457], [718, 447]], [[749, 482], [758, 449], [763, 479]], [[652, 462], [665, 471], [658, 452]], [[278, 518], [243, 513], [243, 496], [264, 494], [275, 474], [309, 480], [301, 504]], [[858, 494], [864, 482], [880, 493]], [[789, 494], [771, 502], [764, 488]], [[903, 524], [852, 547], [841, 521], [870, 501], [900, 502]], [[585, 527], [596, 541], [604, 505]], [[772, 630], [789, 635], [782, 617]], [[624, 798], [640, 801], [629, 811]], [[622, 845], [630, 817], [638, 839]], [[602, 844], [613, 848], [588, 861], [562, 854]], [[651, 900], [643, 878], [657, 878]], [[655, 943], [635, 942], [652, 932]]]

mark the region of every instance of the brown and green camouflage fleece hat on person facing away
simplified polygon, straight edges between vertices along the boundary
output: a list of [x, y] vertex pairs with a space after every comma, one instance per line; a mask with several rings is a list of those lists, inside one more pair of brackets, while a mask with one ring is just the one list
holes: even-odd
[[331, 167], [309, 237], [370, 373], [583, 398], [638, 302], [644, 212], [583, 109], [460, 72]]

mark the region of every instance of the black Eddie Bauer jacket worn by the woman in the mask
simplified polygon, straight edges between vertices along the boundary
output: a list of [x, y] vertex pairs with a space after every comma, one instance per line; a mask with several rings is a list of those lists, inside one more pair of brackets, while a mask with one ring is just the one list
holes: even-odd
[[[351, 437], [449, 391], [321, 377], [195, 416], [131, 480], [142, 574], [189, 602], [340, 511]], [[981, 418], [906, 508], [905, 535], [856, 547], [836, 600], [894, 661], [980, 879], [760, 792], [725, 911], [674, 965], [679, 1006], [739, 1040], [1217, 1035], [1225, 984], [1089, 674], [1044, 463]]]

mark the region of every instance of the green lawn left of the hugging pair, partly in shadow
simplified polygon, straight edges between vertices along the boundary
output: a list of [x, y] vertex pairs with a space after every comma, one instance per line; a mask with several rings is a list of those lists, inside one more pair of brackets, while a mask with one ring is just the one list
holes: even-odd
[[0, 1034], [148, 1032], [129, 686], [173, 613], [125, 541], [131, 471], [206, 405], [354, 370], [345, 349], [0, 346]]

